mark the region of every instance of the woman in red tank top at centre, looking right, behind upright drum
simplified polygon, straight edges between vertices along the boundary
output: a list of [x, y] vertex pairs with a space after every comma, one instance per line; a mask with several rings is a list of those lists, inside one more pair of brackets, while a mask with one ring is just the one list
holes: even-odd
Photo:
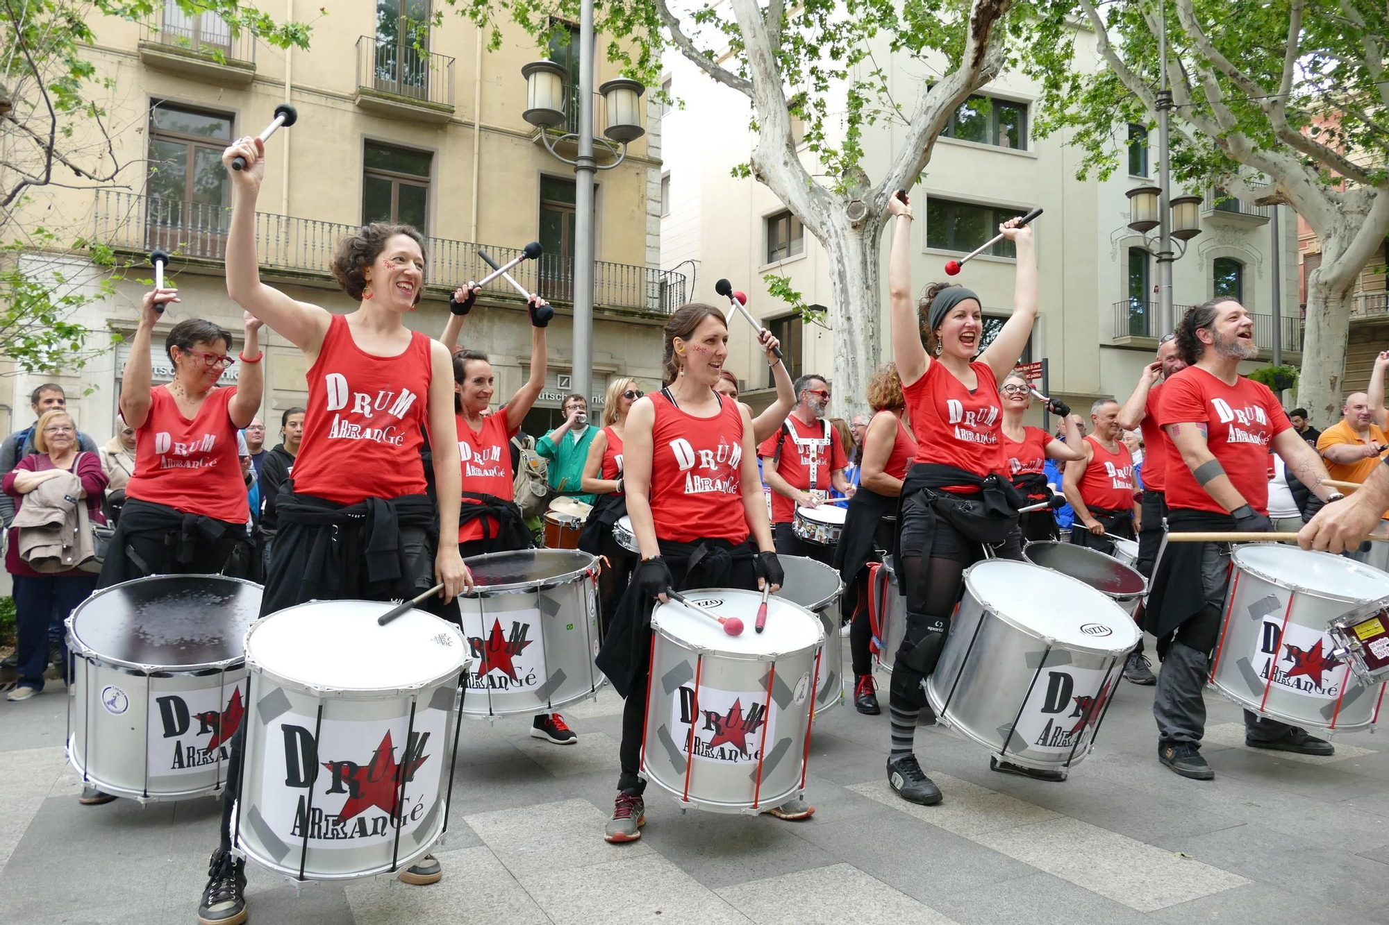
[[[779, 346], [775, 338], [764, 349]], [[633, 842], [644, 822], [638, 776], [646, 688], [651, 671], [651, 611], [669, 589], [781, 588], [767, 504], [757, 478], [751, 417], [717, 392], [728, 357], [728, 326], [718, 308], [682, 306], [665, 324], [668, 385], [639, 399], [622, 442], [628, 515], [642, 562], [632, 575], [597, 665], [626, 699], [618, 796], [604, 839]], [[814, 812], [800, 797], [768, 810], [782, 819]]]

